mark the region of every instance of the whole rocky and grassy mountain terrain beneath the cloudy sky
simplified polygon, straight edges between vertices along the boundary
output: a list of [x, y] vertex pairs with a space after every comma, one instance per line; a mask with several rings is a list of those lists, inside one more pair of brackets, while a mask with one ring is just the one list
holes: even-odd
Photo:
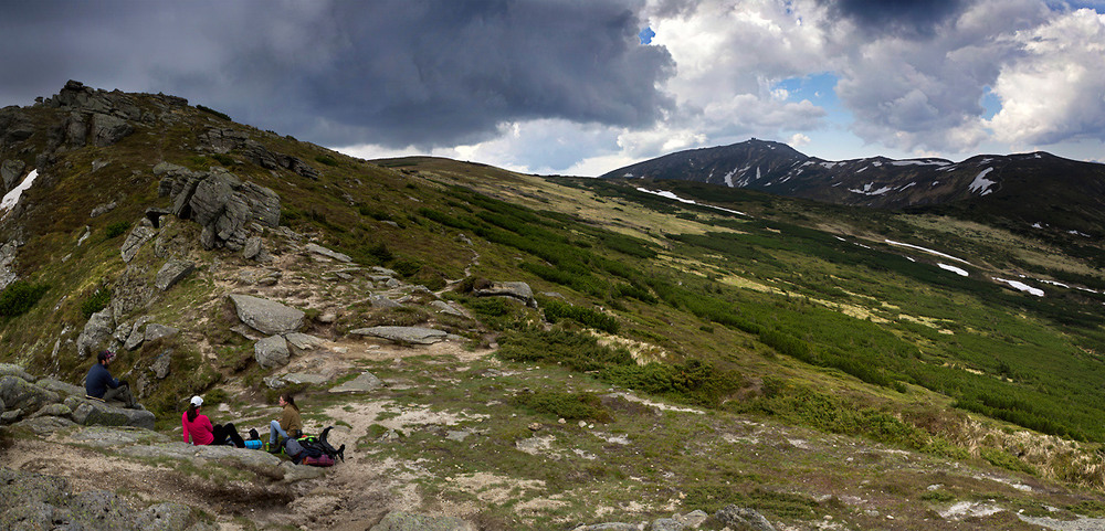
[[[1105, 525], [1099, 198], [730, 148], [661, 189], [78, 82], [0, 109], [0, 529]], [[749, 190], [830, 170], [907, 199]], [[140, 407], [85, 395], [104, 350]], [[263, 446], [285, 393], [332, 466], [181, 431], [198, 395]]]

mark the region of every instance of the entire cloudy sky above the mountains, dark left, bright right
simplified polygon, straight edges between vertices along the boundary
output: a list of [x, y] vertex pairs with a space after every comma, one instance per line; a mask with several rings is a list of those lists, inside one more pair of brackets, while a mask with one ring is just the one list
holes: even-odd
[[1105, 1], [0, 0], [0, 106], [164, 93], [366, 158], [598, 176], [749, 138], [1105, 162]]

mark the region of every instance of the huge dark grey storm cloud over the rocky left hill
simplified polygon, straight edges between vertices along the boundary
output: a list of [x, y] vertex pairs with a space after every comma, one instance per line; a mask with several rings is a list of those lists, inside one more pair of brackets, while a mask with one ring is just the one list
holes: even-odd
[[[326, 145], [453, 145], [503, 121], [651, 124], [667, 52], [629, 0], [7, 2], [0, 103], [76, 78]], [[7, 45], [6, 45], [7, 47]], [[36, 91], [31, 93], [29, 91]]]

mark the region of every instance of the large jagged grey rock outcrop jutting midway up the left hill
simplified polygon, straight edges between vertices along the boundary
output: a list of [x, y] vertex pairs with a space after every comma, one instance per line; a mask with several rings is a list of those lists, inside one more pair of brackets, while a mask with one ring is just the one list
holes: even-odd
[[271, 229], [280, 225], [280, 195], [230, 172], [196, 172], [161, 162], [154, 167], [154, 174], [161, 177], [158, 194], [172, 198], [172, 213], [202, 225], [204, 248], [242, 251], [254, 223]]

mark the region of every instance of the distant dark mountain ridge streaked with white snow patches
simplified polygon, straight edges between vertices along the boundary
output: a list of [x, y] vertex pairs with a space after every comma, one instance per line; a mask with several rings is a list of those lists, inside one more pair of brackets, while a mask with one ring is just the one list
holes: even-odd
[[[891, 210], [962, 206], [1027, 226], [1041, 223], [1094, 237], [1105, 234], [1105, 202], [1101, 199], [1105, 194], [1105, 164], [1043, 151], [978, 155], [960, 162], [885, 157], [828, 161], [783, 144], [751, 139], [678, 151], [600, 177], [690, 180]], [[1046, 211], [1074, 215], [1033, 216]]]

